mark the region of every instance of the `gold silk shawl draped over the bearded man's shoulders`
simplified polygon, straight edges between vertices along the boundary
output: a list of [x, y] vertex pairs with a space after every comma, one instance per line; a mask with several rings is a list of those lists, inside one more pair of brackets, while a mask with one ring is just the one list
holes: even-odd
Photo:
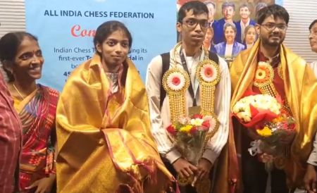
[[[232, 82], [232, 107], [253, 82], [257, 67], [259, 40], [251, 49], [242, 51], [230, 66]], [[304, 59], [280, 46], [280, 62], [284, 77], [285, 95], [296, 120], [297, 135], [291, 146], [285, 173], [290, 187], [299, 186], [304, 178], [306, 161], [311, 153], [313, 136], [317, 127], [317, 82], [313, 71]], [[235, 130], [236, 131], [236, 130]], [[239, 133], [235, 133], [239, 136]], [[236, 136], [236, 137], [237, 137]], [[239, 144], [236, 144], [239, 147]], [[239, 149], [237, 149], [239, 151]]]

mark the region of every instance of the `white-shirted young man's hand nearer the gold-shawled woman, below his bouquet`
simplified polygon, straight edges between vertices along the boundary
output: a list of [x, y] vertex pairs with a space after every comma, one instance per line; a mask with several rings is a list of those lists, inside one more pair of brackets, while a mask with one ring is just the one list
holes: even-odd
[[175, 168], [180, 178], [189, 177], [190, 175], [194, 175], [197, 171], [196, 166], [189, 163], [185, 158], [179, 158], [173, 163], [173, 167]]

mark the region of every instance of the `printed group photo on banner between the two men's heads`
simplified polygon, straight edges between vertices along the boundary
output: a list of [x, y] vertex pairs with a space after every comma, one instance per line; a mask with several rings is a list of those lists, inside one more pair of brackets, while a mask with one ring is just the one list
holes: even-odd
[[[178, 0], [180, 6], [190, 0]], [[264, 6], [277, 4], [275, 0], [199, 0], [209, 8], [210, 27], [207, 29], [204, 46], [230, 63], [257, 39], [255, 15]], [[279, 2], [281, 3], [281, 2]], [[178, 36], [178, 40], [181, 37]]]

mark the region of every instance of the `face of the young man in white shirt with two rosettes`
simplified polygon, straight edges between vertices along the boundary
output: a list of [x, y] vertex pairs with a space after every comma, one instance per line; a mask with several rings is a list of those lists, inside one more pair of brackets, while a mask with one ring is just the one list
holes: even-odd
[[178, 32], [182, 35], [183, 44], [194, 47], [202, 45], [209, 26], [203, 27], [201, 23], [208, 23], [207, 13], [194, 15], [192, 10], [186, 12], [182, 23], [178, 22], [176, 26]]

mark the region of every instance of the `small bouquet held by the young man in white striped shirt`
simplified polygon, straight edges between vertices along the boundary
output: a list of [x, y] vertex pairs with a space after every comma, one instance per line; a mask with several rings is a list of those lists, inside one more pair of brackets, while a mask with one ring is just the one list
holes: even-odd
[[[166, 127], [168, 136], [182, 157], [197, 166], [199, 158], [204, 151], [206, 135], [216, 128], [218, 122], [213, 116], [180, 117], [175, 123]], [[192, 184], [190, 179], [178, 179], [180, 185]]]

